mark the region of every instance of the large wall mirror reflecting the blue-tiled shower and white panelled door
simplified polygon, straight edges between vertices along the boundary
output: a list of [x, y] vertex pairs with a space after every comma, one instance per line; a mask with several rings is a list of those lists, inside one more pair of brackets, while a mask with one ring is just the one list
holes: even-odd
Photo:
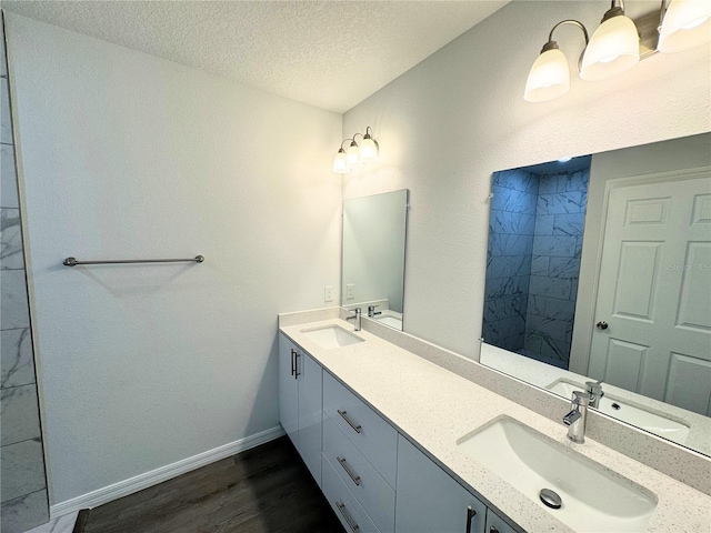
[[491, 191], [481, 363], [711, 455], [711, 133]]

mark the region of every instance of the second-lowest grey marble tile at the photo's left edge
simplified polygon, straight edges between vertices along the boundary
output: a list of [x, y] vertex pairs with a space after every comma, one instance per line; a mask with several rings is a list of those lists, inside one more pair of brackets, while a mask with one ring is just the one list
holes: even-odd
[[[44, 459], [39, 439], [2, 446], [2, 500], [13, 500], [44, 489]], [[4, 530], [3, 530], [4, 531]]]

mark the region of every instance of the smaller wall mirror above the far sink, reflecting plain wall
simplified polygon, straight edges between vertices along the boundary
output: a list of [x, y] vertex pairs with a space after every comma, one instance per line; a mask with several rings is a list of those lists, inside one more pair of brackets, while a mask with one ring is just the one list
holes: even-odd
[[341, 305], [402, 330], [408, 190], [343, 202]]

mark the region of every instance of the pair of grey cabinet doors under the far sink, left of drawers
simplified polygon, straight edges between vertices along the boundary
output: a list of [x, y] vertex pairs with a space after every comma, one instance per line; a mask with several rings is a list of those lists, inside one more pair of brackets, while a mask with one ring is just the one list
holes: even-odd
[[321, 486], [323, 370], [279, 335], [279, 421]]

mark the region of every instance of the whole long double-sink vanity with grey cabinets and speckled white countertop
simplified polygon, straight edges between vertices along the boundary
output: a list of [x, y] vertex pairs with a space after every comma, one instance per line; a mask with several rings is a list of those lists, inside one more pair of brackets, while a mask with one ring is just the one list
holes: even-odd
[[[561, 423], [468, 379], [478, 363], [367, 319], [354, 332], [339, 312], [280, 315], [280, 415], [347, 531], [709, 530], [709, 495], [569, 442]], [[560, 509], [539, 499], [548, 480]]]

